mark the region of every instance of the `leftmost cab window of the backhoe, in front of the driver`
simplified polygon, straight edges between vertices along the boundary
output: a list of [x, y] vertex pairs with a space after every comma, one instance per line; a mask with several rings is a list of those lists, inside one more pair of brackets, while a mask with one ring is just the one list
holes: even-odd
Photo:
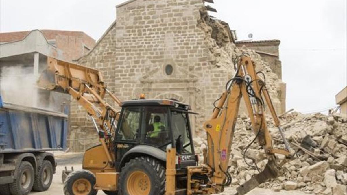
[[121, 125], [117, 131], [118, 140], [136, 140], [140, 126], [140, 109], [125, 108], [121, 116]]

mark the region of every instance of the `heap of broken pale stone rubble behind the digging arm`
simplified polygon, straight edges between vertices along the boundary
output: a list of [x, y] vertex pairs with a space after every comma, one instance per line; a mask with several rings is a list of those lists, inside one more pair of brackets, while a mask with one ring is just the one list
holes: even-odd
[[[286, 137], [298, 158], [285, 164], [286, 173], [279, 178], [266, 182], [260, 187], [274, 191], [302, 190], [312, 194], [344, 195], [347, 193], [347, 118], [338, 113], [328, 116], [321, 113], [304, 115], [292, 112], [280, 118], [285, 127]], [[272, 119], [267, 119], [275, 148], [284, 148], [277, 128]], [[239, 116], [230, 157], [231, 185], [241, 185], [267, 163], [263, 149], [257, 141], [246, 152], [243, 150], [254, 139], [251, 121]], [[194, 139], [195, 148], [206, 147], [203, 138]], [[202, 149], [197, 149], [201, 152]], [[293, 151], [293, 152], [294, 152]], [[201, 156], [200, 159], [203, 157]], [[284, 156], [278, 155], [279, 159]], [[253, 166], [248, 166], [247, 164]]]

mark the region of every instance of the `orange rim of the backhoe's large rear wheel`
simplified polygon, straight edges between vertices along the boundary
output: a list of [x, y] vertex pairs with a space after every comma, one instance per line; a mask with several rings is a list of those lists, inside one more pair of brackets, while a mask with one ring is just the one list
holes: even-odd
[[131, 195], [149, 195], [151, 180], [143, 171], [134, 171], [127, 179], [127, 191]]

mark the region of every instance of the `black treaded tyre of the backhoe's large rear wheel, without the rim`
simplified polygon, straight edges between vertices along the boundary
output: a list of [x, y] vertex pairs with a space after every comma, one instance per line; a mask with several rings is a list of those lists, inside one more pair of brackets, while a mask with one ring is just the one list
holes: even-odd
[[135, 171], [146, 174], [150, 180], [149, 195], [162, 195], [165, 193], [165, 168], [162, 164], [147, 156], [141, 156], [130, 160], [122, 167], [119, 174], [118, 192], [121, 195], [133, 195], [128, 192], [127, 181], [129, 176]]

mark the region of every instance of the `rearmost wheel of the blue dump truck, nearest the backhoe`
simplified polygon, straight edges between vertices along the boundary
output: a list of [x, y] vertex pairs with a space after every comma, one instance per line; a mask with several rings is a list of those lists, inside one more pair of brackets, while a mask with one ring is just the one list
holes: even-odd
[[44, 160], [37, 169], [33, 189], [37, 192], [46, 191], [52, 184], [53, 165], [50, 161]]

